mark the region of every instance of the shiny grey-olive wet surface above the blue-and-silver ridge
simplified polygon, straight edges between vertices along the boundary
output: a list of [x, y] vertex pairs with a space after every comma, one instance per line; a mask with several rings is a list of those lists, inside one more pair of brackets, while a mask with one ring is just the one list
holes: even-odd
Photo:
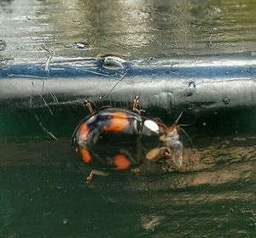
[[254, 52], [255, 8], [250, 0], [1, 1], [0, 40], [16, 62], [45, 59], [42, 45], [57, 58]]

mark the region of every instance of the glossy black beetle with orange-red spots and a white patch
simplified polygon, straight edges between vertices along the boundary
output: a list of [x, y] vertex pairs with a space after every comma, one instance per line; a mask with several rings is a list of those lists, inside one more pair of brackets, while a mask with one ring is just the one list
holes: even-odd
[[131, 110], [105, 106], [94, 111], [88, 100], [84, 102], [90, 115], [76, 127], [71, 142], [92, 167], [88, 181], [94, 174], [135, 168], [147, 160], [182, 166], [183, 143], [177, 125], [182, 113], [168, 127], [159, 119], [141, 116], [138, 99], [133, 100]]

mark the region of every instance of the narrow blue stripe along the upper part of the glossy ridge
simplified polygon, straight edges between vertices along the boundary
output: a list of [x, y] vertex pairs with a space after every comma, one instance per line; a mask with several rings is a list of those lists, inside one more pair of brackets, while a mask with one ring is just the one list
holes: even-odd
[[[236, 55], [234, 56], [236, 59]], [[207, 57], [206, 57], [207, 59]], [[250, 59], [250, 58], [249, 58]], [[223, 60], [223, 59], [221, 59]], [[227, 59], [229, 60], [229, 59]], [[84, 59], [86, 62], [86, 59]], [[216, 79], [222, 77], [255, 77], [256, 65], [207, 65], [207, 66], [195, 66], [188, 65], [179, 67], [162, 67], [161, 61], [159, 65], [150, 64], [140, 67], [134, 67], [134, 63], [125, 62], [124, 68], [120, 70], [108, 70], [102, 67], [101, 60], [95, 59], [94, 62], [97, 67], [91, 68], [82, 66], [65, 66], [65, 62], [62, 64], [54, 64], [49, 71], [45, 70], [45, 64], [33, 64], [33, 65], [11, 65], [8, 68], [0, 69], [0, 78], [6, 77], [119, 77], [124, 75], [126, 77], [181, 77], [181, 78], [201, 78]]]

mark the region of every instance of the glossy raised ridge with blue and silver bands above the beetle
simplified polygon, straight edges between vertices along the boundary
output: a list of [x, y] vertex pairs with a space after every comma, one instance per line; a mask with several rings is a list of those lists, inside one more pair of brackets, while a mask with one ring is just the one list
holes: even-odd
[[[172, 64], [171, 64], [172, 63]], [[172, 65], [172, 67], [171, 67]], [[231, 65], [231, 66], [230, 66]], [[140, 95], [143, 108], [207, 111], [256, 103], [256, 59], [250, 55], [126, 61], [117, 57], [11, 65], [0, 71], [0, 100], [19, 106], [112, 103]], [[42, 102], [44, 98], [44, 102]]]

